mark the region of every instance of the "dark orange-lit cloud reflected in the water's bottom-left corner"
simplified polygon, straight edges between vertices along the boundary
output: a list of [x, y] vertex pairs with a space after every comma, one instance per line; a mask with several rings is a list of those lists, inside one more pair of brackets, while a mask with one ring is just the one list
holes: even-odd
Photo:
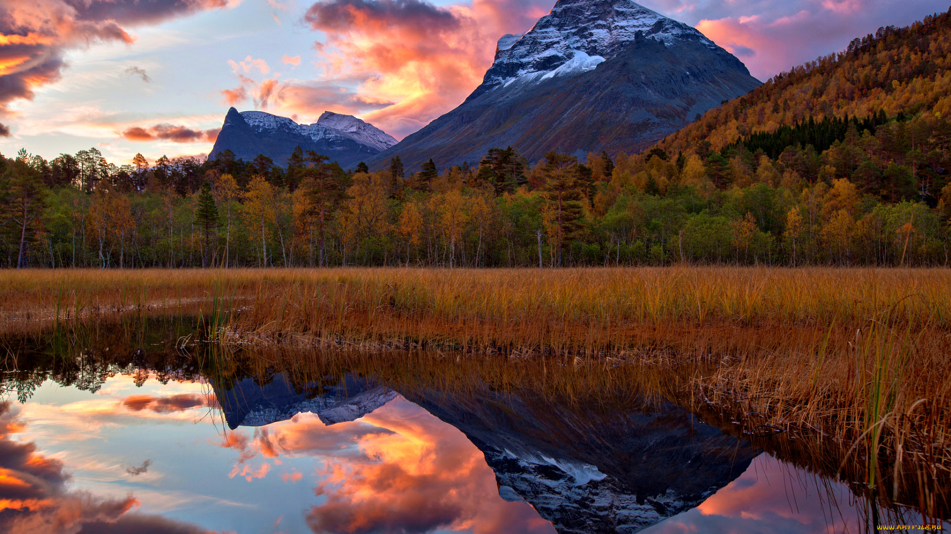
[[87, 491], [69, 490], [63, 462], [38, 454], [32, 442], [13, 439], [12, 434], [22, 428], [10, 403], [0, 403], [0, 501], [4, 503], [0, 532], [211, 534], [198, 525], [128, 513], [138, 505], [132, 495], [104, 499]]

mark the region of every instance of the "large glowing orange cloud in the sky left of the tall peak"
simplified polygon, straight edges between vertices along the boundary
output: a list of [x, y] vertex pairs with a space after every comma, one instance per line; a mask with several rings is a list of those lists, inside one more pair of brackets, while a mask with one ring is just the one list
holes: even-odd
[[498, 37], [531, 28], [551, 5], [476, 0], [471, 7], [437, 8], [420, 0], [322, 0], [304, 15], [327, 36], [315, 44], [322, 81], [243, 83], [243, 92], [222, 94], [231, 105], [250, 92], [255, 105], [287, 115], [358, 114], [400, 139], [461, 103], [492, 64]]

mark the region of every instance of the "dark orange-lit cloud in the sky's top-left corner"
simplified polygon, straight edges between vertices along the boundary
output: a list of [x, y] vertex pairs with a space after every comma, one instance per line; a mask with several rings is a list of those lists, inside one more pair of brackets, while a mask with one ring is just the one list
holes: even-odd
[[[126, 28], [225, 5], [225, 0], [3, 0], [0, 114], [14, 100], [32, 99], [35, 87], [59, 80], [69, 48], [131, 44], [134, 38]], [[141, 75], [147, 81], [145, 71]]]

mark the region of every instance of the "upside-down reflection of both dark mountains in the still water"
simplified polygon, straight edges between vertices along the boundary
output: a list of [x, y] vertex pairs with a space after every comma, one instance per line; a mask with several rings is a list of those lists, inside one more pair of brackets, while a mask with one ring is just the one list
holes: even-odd
[[462, 431], [495, 472], [499, 495], [524, 500], [560, 534], [633, 533], [700, 505], [759, 453], [670, 403], [611, 404], [475, 388], [379, 385], [353, 373], [334, 386], [292, 385], [285, 372], [212, 381], [230, 429], [316, 413], [353, 421], [402, 396]]

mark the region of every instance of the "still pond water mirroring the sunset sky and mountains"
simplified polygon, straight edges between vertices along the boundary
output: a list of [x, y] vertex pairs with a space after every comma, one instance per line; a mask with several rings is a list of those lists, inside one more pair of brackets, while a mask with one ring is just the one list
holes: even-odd
[[69, 353], [14, 349], [0, 404], [0, 531], [798, 534], [922, 524], [640, 391], [560, 394], [564, 385], [546, 381], [562, 368], [507, 389], [497, 385], [509, 364], [443, 374], [464, 363], [451, 357], [420, 367], [400, 354], [215, 355], [173, 350], [174, 333], [85, 341]]

